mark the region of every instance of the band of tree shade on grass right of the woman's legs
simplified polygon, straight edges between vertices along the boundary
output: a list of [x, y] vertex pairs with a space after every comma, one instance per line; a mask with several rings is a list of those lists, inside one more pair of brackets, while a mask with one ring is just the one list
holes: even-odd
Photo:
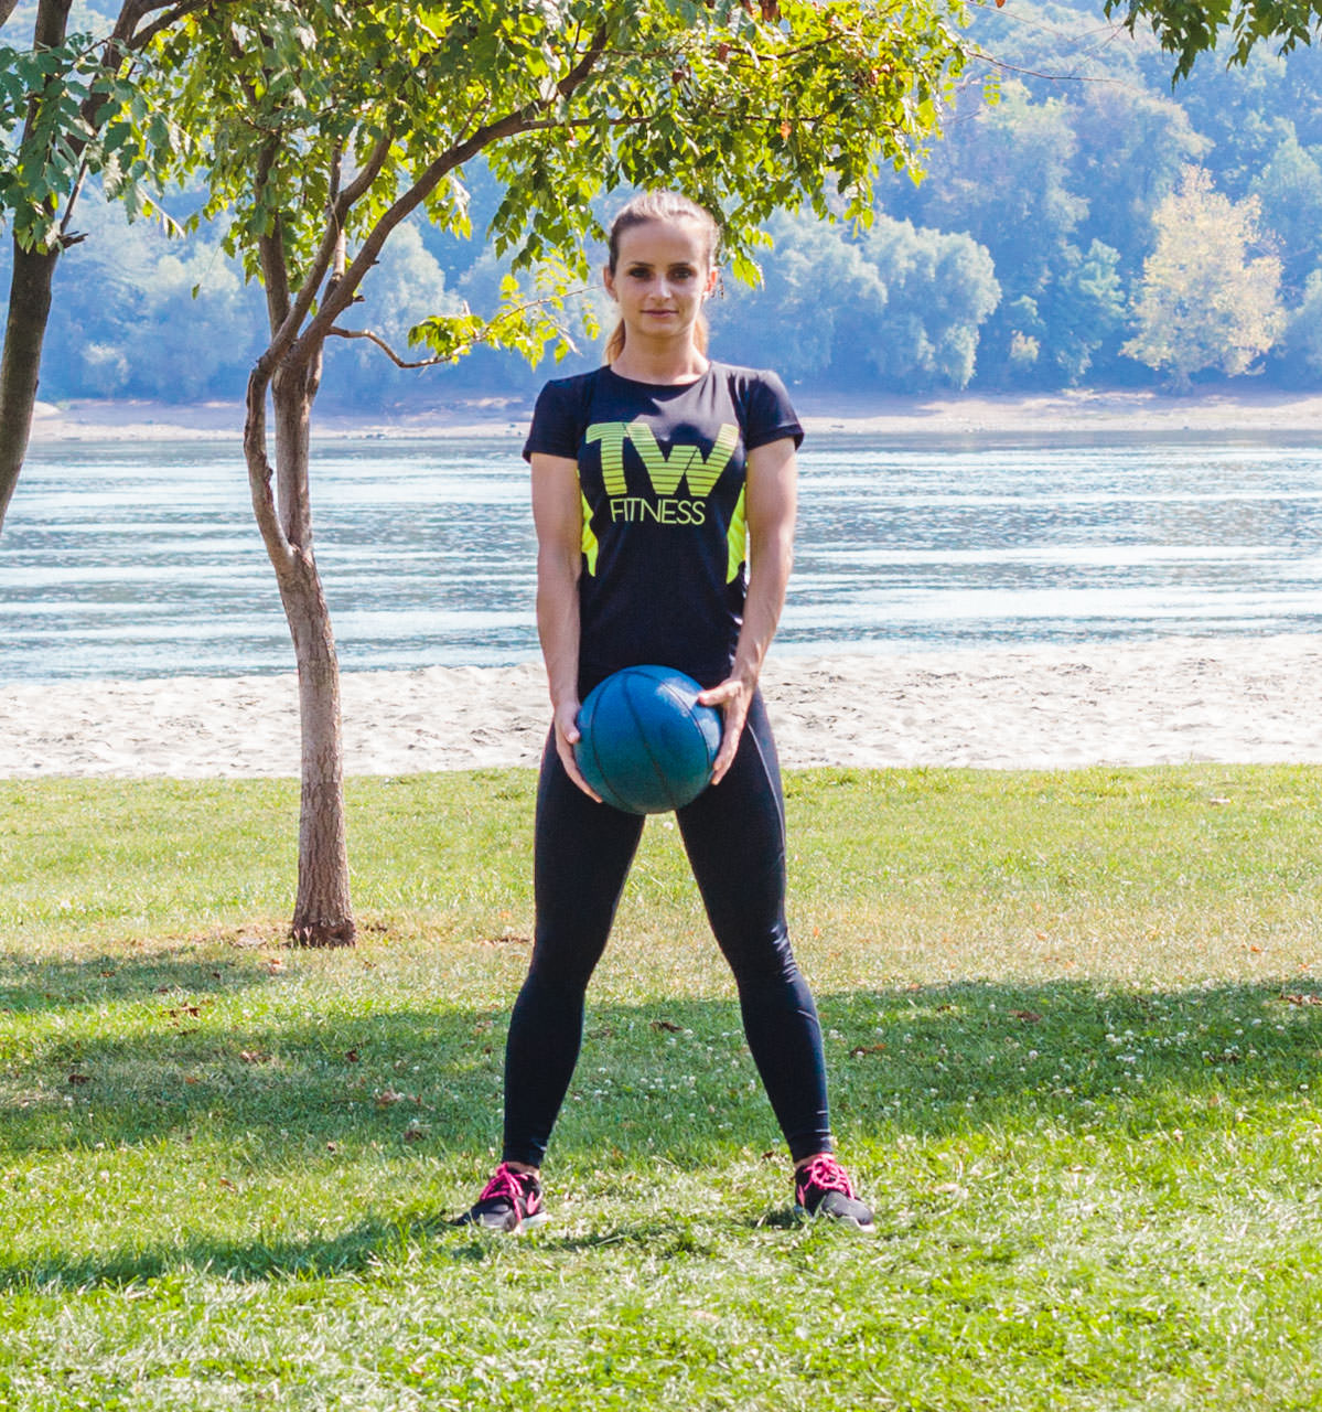
[[[1078, 1128], [1194, 1131], [1215, 1110], [1308, 1090], [1322, 1059], [1322, 984], [1116, 988], [1099, 981], [957, 981], [823, 1001], [848, 1128], [941, 1138], [1026, 1111]], [[842, 1124], [837, 1124], [841, 1127]]]

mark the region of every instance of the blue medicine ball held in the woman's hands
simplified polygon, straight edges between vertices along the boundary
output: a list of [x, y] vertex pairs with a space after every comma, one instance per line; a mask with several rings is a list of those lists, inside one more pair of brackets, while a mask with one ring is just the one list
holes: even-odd
[[583, 778], [625, 813], [666, 813], [711, 782], [721, 713], [669, 666], [626, 666], [588, 692], [574, 758]]

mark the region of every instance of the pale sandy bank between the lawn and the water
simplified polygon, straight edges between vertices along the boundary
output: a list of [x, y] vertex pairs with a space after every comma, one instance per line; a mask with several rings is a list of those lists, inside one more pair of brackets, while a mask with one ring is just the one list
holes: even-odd
[[[1322, 761], [1322, 638], [775, 657], [787, 767]], [[295, 679], [0, 686], [0, 775], [293, 775]], [[350, 774], [532, 765], [542, 669], [344, 676]]]

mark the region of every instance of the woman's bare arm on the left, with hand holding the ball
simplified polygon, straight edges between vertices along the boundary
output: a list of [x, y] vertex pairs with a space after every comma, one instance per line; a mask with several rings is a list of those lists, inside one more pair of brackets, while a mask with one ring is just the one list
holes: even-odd
[[556, 754], [566, 774], [600, 802], [578, 772], [578, 575], [583, 500], [578, 466], [567, 456], [532, 456], [532, 521], [538, 531], [538, 637], [554, 712]]

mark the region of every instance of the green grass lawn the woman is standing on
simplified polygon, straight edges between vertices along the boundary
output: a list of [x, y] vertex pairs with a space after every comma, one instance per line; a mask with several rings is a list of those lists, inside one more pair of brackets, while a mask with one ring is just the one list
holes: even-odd
[[792, 921], [872, 1241], [652, 820], [546, 1168], [487, 1176], [533, 779], [0, 781], [0, 1408], [1322, 1408], [1322, 770], [811, 771]]

